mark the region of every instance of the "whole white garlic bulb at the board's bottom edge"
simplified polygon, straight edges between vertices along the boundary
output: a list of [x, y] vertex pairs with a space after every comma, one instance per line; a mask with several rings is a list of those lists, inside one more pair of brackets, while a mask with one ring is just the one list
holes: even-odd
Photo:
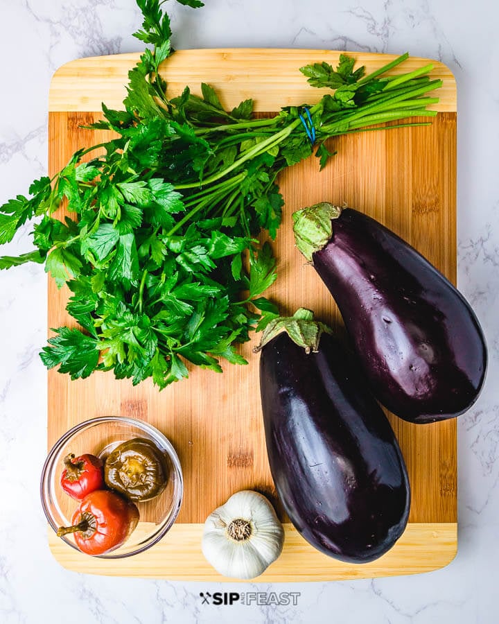
[[283, 541], [282, 525], [269, 501], [243, 489], [207, 517], [202, 552], [220, 574], [249, 579], [279, 557]]

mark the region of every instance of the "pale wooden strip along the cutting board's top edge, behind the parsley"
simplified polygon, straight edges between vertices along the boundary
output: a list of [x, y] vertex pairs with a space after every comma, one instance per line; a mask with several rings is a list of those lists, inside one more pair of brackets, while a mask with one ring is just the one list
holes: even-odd
[[[161, 76], [168, 83], [168, 95], [180, 95], [186, 85], [200, 95], [201, 83], [208, 83], [220, 92], [222, 104], [229, 110], [247, 98], [256, 99], [256, 111], [280, 110], [283, 106], [317, 101], [327, 89], [310, 87], [299, 68], [326, 61], [338, 63], [341, 52], [334, 50], [295, 50], [229, 48], [177, 50], [161, 66]], [[396, 58], [392, 54], [351, 52], [358, 66], [367, 73]], [[128, 71], [139, 61], [139, 53], [80, 58], [62, 65], [55, 72], [49, 95], [51, 111], [100, 110], [121, 108], [126, 95]], [[439, 61], [410, 57], [391, 73], [413, 71], [432, 63], [432, 78], [441, 78], [439, 103], [435, 110], [455, 111], [455, 80], [452, 72]], [[357, 66], [356, 66], [357, 67]]]

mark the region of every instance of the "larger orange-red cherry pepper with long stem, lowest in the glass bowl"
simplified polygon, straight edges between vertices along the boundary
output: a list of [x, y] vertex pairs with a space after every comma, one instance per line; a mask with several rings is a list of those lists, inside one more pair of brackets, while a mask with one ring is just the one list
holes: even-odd
[[74, 533], [76, 546], [87, 555], [110, 553], [125, 542], [137, 526], [137, 506], [108, 489], [85, 496], [73, 514], [73, 525], [58, 529], [58, 537]]

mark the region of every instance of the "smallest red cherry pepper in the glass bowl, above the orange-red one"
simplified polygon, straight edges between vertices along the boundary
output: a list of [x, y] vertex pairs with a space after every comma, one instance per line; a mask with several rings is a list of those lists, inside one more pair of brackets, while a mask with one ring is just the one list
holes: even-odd
[[104, 468], [103, 462], [95, 455], [80, 455], [75, 457], [73, 453], [64, 458], [64, 470], [60, 483], [64, 492], [73, 499], [81, 501], [94, 492], [94, 489], [103, 489]]

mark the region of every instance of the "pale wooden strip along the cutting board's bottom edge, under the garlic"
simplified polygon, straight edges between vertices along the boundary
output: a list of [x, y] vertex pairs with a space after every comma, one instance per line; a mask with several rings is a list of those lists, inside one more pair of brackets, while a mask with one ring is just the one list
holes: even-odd
[[[368, 564], [345, 564], [316, 551], [291, 524], [284, 524], [286, 549], [262, 575], [250, 581], [226, 578], [202, 555], [203, 524], [175, 524], [172, 539], [165, 537], [149, 551], [128, 559], [103, 560], [67, 546], [49, 527], [49, 549], [70, 571], [105, 576], [155, 578], [175, 581], [269, 583], [324, 582], [360, 578], [405, 576], [442, 569], [457, 555], [457, 523], [409, 523], [402, 537], [383, 557]], [[182, 544], [182, 539], [186, 542]], [[179, 546], [179, 541], [182, 546]], [[181, 550], [189, 545], [189, 550]], [[180, 558], [175, 553], [180, 553]], [[165, 561], [168, 565], [165, 566]], [[200, 570], [196, 573], [196, 570]]]

